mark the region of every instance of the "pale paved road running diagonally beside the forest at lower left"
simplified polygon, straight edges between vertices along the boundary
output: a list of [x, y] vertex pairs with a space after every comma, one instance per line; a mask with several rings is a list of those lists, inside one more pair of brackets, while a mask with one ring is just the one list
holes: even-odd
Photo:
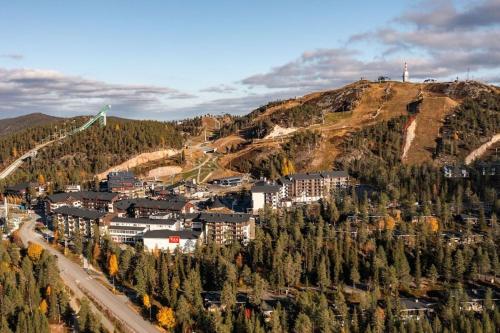
[[97, 299], [101, 304], [104, 304], [115, 317], [126, 323], [132, 331], [141, 333], [159, 332], [153, 325], [145, 321], [129, 307], [126, 297], [113, 294], [100, 282], [92, 279], [79, 265], [73, 263], [57, 250], [50, 247], [39, 234], [34, 232], [34, 226], [35, 221], [31, 220], [30, 222], [25, 222], [21, 227], [20, 236], [23, 243], [36, 242], [55, 255], [58, 258], [57, 262], [61, 271], [61, 278], [68, 287], [72, 290], [74, 288], [77, 290], [80, 287], [84, 288], [92, 297]]

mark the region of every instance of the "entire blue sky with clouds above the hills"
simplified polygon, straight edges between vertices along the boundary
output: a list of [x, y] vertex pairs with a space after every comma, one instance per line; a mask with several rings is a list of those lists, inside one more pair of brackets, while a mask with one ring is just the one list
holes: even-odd
[[172, 120], [378, 76], [500, 82], [500, 0], [0, 0], [0, 118]]

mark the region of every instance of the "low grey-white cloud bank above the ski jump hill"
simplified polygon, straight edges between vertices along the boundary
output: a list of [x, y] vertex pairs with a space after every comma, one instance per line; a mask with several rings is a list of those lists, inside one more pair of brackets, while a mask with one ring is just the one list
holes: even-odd
[[112, 84], [51, 70], [0, 68], [1, 117], [35, 111], [91, 114], [103, 104], [113, 104], [120, 116], [147, 118], [148, 112], [171, 109], [169, 100], [195, 97], [167, 87]]

